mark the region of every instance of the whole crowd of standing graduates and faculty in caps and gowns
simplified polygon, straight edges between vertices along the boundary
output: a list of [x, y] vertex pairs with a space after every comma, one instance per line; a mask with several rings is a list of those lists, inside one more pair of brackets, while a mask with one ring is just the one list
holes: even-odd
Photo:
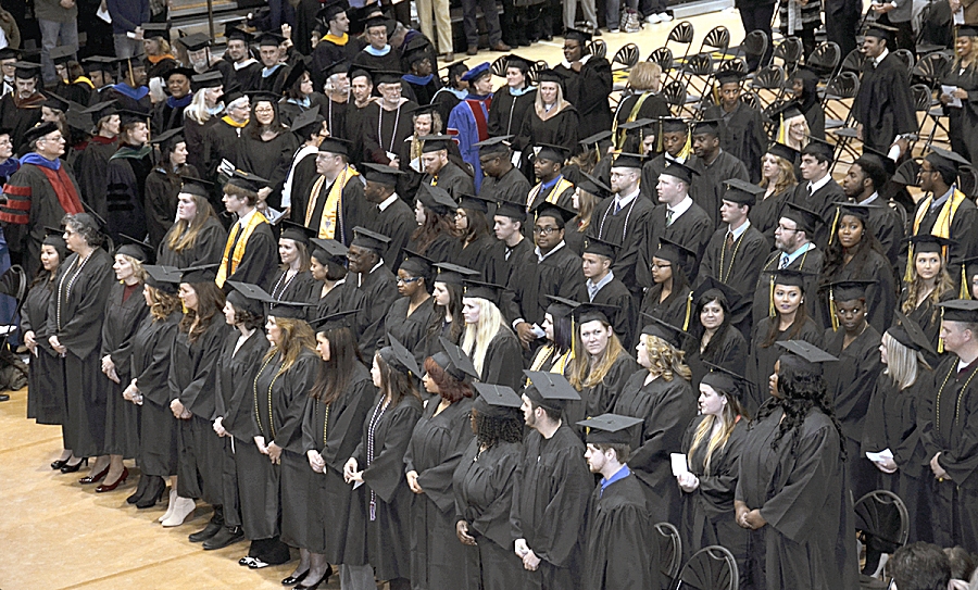
[[438, 68], [384, 13], [318, 26], [302, 55], [230, 24], [217, 59], [147, 23], [145, 57], [52, 49], [47, 89], [0, 50], [52, 469], [92, 460], [106, 493], [135, 461], [130, 504], [211, 506], [190, 540], [248, 540], [242, 566], [298, 549], [298, 588], [665, 588], [660, 523], [741, 588], [855, 588], [878, 489], [911, 541], [978, 551], [970, 156], [894, 175], [892, 29], [865, 34], [839, 184], [811, 70], [774, 118], [722, 72], [689, 121], [651, 62], [612, 108], [590, 33], [552, 68]]

